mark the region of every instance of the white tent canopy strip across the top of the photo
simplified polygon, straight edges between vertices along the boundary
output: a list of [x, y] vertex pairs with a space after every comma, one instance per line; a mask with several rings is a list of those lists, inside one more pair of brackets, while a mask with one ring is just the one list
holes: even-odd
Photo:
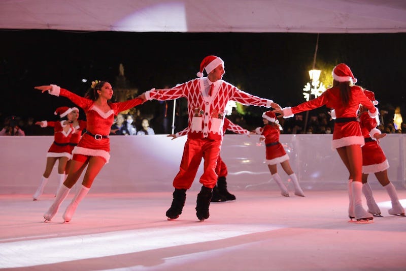
[[405, 0], [2, 0], [0, 28], [124, 32], [406, 32]]

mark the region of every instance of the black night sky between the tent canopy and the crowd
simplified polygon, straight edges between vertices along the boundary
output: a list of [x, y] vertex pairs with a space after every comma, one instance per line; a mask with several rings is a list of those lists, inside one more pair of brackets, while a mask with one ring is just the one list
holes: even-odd
[[[2, 121], [9, 115], [50, 119], [56, 107], [73, 105], [40, 94], [36, 85], [54, 83], [83, 96], [90, 81], [100, 79], [114, 89], [122, 63], [126, 79], [142, 93], [196, 78], [201, 59], [210, 54], [224, 60], [225, 81], [282, 107], [296, 105], [304, 101], [302, 88], [309, 81], [317, 40], [317, 34], [294, 33], [3, 30], [0, 35]], [[380, 107], [400, 106], [406, 117], [405, 48], [405, 33], [320, 34], [316, 68], [318, 63], [346, 63], [357, 84], [375, 92]], [[264, 108], [249, 110], [260, 114]]]

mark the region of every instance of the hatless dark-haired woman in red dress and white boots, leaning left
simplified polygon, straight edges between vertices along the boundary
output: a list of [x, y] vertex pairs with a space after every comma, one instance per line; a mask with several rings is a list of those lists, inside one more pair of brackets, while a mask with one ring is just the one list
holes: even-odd
[[83, 170], [86, 168], [83, 177], [82, 187], [77, 191], [72, 202], [67, 206], [63, 220], [69, 222], [80, 201], [88, 193], [94, 178], [101, 168], [110, 159], [110, 127], [113, 124], [114, 116], [119, 112], [130, 109], [142, 103], [142, 99], [135, 98], [126, 102], [111, 103], [109, 100], [113, 95], [113, 88], [109, 82], [101, 81], [92, 84], [85, 98], [80, 97], [57, 85], [36, 86], [42, 92], [48, 91], [55, 96], [64, 96], [83, 108], [86, 114], [86, 133], [80, 139], [78, 145], [73, 149], [73, 161], [65, 182], [59, 189], [55, 201], [44, 214], [45, 221], [51, 221], [58, 212], [59, 206], [67, 194], [76, 184]]

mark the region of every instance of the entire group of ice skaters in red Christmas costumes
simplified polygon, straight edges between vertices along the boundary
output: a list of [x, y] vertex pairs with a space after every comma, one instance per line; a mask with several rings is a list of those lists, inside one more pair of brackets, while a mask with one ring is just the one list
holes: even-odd
[[[207, 77], [203, 76], [206, 71]], [[110, 159], [110, 129], [114, 116], [148, 100], [173, 100], [186, 98], [188, 102], [188, 127], [175, 134], [176, 138], [187, 135], [178, 174], [173, 180], [175, 191], [170, 208], [166, 211], [168, 219], [176, 219], [182, 214], [186, 201], [186, 191], [190, 189], [198, 167], [204, 159], [204, 170], [199, 178], [202, 185], [196, 200], [196, 216], [199, 220], [208, 219], [210, 202], [234, 200], [235, 196], [227, 191], [227, 167], [219, 153], [224, 132], [228, 129], [239, 134], [261, 134], [260, 141], [265, 141], [266, 162], [272, 178], [278, 184], [281, 195], [289, 192], [277, 173], [277, 164], [289, 175], [294, 185], [294, 194], [304, 196], [296, 174], [291, 169], [289, 157], [279, 142], [280, 126], [275, 113], [291, 117], [295, 113], [315, 109], [326, 105], [333, 109], [335, 118], [332, 147], [349, 171], [349, 217], [357, 222], [370, 223], [374, 216], [380, 216], [372, 191], [367, 183], [367, 175], [375, 173], [379, 182], [387, 190], [392, 208], [391, 215], [404, 216], [396, 190], [387, 176], [388, 162], [379, 146], [379, 139], [385, 134], [376, 129], [378, 110], [374, 105], [375, 96], [360, 86], [353, 85], [357, 80], [345, 64], [334, 67], [333, 86], [320, 97], [299, 104], [295, 107], [281, 108], [272, 100], [259, 98], [241, 91], [239, 88], [222, 80], [225, 73], [224, 62], [220, 57], [209, 55], [201, 64], [197, 78], [167, 89], [151, 89], [139, 97], [125, 102], [112, 103], [113, 88], [109, 82], [92, 82], [91, 88], [80, 97], [57, 85], [37, 86], [42, 92], [48, 91], [55, 96], [63, 96], [81, 107], [86, 114], [86, 122], [78, 121], [78, 108], [61, 107], [55, 112], [60, 122], [39, 122], [42, 127], [52, 126], [55, 140], [47, 154], [47, 166], [40, 186], [33, 199], [43, 193], [48, 177], [56, 160], [59, 160], [58, 174], [60, 185], [55, 200], [44, 214], [46, 221], [51, 221], [57, 214], [59, 206], [76, 184], [87, 167], [82, 185], [63, 213], [64, 222], [69, 222], [81, 200], [88, 193], [94, 178]], [[247, 131], [231, 123], [225, 116], [231, 112], [230, 101], [243, 105], [273, 108], [263, 113], [262, 128]], [[359, 121], [357, 114], [359, 112]], [[82, 130], [86, 132], [81, 136]], [[362, 146], [362, 149], [361, 149]], [[70, 161], [67, 163], [67, 161]], [[66, 166], [68, 164], [68, 166]], [[68, 173], [65, 176], [65, 173]], [[362, 206], [362, 192], [366, 197], [368, 210]]]

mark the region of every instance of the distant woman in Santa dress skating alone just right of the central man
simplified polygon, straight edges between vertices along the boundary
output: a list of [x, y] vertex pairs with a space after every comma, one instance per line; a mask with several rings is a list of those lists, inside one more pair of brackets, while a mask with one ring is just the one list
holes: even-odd
[[278, 184], [281, 189], [281, 195], [289, 197], [289, 192], [286, 186], [283, 184], [281, 177], [278, 174], [277, 164], [280, 163], [286, 174], [289, 175], [292, 180], [295, 195], [304, 197], [304, 193], [300, 188], [299, 182], [297, 180], [296, 174], [293, 172], [289, 163], [289, 156], [286, 154], [285, 149], [279, 142], [280, 127], [279, 122], [276, 119], [276, 115], [272, 111], [266, 111], [262, 114], [263, 124], [262, 128], [257, 128], [255, 131], [261, 134], [259, 142], [265, 140], [266, 146], [266, 163], [272, 178]]

